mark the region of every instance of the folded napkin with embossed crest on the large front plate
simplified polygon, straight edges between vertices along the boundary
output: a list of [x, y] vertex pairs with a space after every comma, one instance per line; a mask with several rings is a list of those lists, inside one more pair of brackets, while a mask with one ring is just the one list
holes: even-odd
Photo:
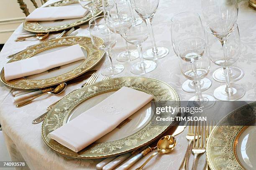
[[145, 92], [122, 87], [99, 104], [49, 133], [49, 137], [74, 152], [79, 152], [114, 130], [152, 99], [153, 96]]

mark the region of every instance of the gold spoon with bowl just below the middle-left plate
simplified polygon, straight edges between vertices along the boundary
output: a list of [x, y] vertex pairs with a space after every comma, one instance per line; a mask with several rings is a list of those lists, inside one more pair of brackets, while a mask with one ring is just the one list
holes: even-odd
[[40, 95], [36, 95], [35, 97], [26, 100], [24, 102], [20, 102], [18, 104], [16, 104], [16, 107], [22, 107], [27, 105], [28, 103], [32, 102], [32, 100], [36, 99], [37, 97], [40, 97], [41, 95], [44, 95], [46, 93], [51, 93], [53, 95], [59, 95], [61, 92], [63, 92], [65, 90], [65, 88], [67, 87], [67, 84], [65, 82], [59, 84], [55, 89], [54, 88], [49, 88], [49, 89], [45, 89], [42, 90], [43, 93], [41, 93]]

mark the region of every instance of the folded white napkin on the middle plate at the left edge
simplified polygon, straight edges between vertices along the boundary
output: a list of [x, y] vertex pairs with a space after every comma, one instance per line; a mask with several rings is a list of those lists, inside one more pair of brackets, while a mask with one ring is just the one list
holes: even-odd
[[25, 60], [6, 63], [4, 65], [5, 80], [35, 75], [84, 58], [84, 52], [77, 44]]

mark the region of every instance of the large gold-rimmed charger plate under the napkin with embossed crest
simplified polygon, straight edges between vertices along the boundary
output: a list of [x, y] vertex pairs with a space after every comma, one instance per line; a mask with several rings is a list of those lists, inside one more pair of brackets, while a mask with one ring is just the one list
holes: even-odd
[[[100, 81], [95, 84], [83, 87], [74, 92], [71, 92], [69, 95], [65, 96], [60, 102], [56, 104], [56, 106], [48, 113], [42, 125], [42, 137], [44, 139], [44, 142], [52, 150], [61, 155], [72, 158], [87, 159], [105, 158], [113, 155], [126, 153], [131, 150], [140, 148], [144, 145], [147, 145], [150, 141], [157, 138], [169, 127], [169, 125], [172, 124], [172, 122], [170, 121], [163, 125], [162, 122], [156, 121], [157, 115], [155, 113], [149, 116], [145, 116], [150, 117], [148, 121], [142, 119], [141, 122], [137, 122], [139, 117], [143, 115], [143, 113], [140, 112], [138, 112], [139, 114], [137, 114], [137, 112], [133, 114], [134, 116], [138, 116], [138, 118], [131, 118], [133, 116], [132, 115], [131, 117], [129, 117], [129, 119], [131, 118], [131, 122], [128, 122], [120, 129], [116, 128], [115, 130], [113, 130], [117, 133], [115, 133], [114, 135], [112, 134], [112, 136], [109, 136], [107, 139], [105, 138], [106, 135], [103, 136], [95, 143], [81, 150], [79, 153], [75, 153], [74, 151], [69, 150], [68, 148], [57, 143], [55, 140], [51, 140], [48, 137], [49, 133], [66, 124], [67, 121], [70, 120], [70, 115], [72, 116], [72, 112], [76, 112], [76, 108], [79, 107], [79, 105], [84, 104], [86, 106], [87, 104], [91, 103], [90, 107], [93, 107], [96, 104], [95, 102], [100, 102], [104, 100], [102, 98], [100, 98], [99, 100], [100, 96], [113, 93], [114, 91], [120, 89], [123, 86], [131, 87], [133, 89], [151, 94], [153, 95], [154, 100], [157, 102], [174, 101], [172, 102], [173, 107], [179, 106], [180, 104], [177, 92], [168, 84], [156, 79], [147, 77], [118, 77]], [[106, 96], [104, 98], [106, 98]], [[151, 103], [149, 103], [149, 105], [150, 104]], [[148, 108], [149, 110], [151, 110], [150, 107]], [[84, 112], [87, 109], [90, 108], [87, 107], [86, 109], [82, 109], [80, 113]], [[174, 113], [172, 116], [175, 117], [176, 114], [177, 113]], [[127, 128], [131, 127], [131, 125], [133, 124], [133, 120], [135, 122], [135, 125], [143, 124], [143, 122], [145, 123], [143, 126], [133, 132], [133, 128]], [[121, 131], [122, 129], [123, 131]], [[131, 131], [131, 134], [125, 136], [123, 132], [125, 133], [126, 131]], [[107, 135], [111, 134], [108, 133]], [[113, 136], [115, 136], [115, 138], [113, 138]], [[118, 138], [116, 138], [117, 136]]]

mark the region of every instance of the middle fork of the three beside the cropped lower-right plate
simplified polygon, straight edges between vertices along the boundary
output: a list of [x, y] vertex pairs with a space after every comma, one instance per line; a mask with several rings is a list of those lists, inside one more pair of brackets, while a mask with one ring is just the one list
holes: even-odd
[[197, 122], [197, 127], [195, 128], [194, 133], [194, 141], [197, 138], [197, 141], [193, 143], [192, 153], [194, 154], [194, 160], [192, 165], [192, 170], [195, 170], [197, 163], [197, 156], [205, 153], [206, 150], [206, 122], [202, 122], [202, 126], [200, 122]]

